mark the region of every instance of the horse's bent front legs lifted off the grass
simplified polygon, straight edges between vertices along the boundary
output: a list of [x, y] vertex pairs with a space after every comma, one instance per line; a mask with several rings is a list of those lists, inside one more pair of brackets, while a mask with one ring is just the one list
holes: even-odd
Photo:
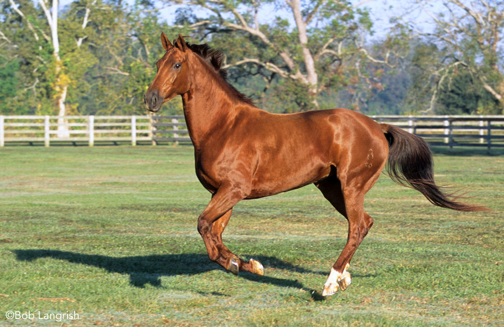
[[235, 275], [238, 275], [239, 270], [264, 275], [263, 265], [259, 261], [250, 259], [244, 262], [222, 242], [222, 232], [229, 222], [232, 207], [243, 198], [239, 192], [227, 190], [228, 188], [219, 188], [198, 218], [198, 232], [205, 242], [208, 257]]

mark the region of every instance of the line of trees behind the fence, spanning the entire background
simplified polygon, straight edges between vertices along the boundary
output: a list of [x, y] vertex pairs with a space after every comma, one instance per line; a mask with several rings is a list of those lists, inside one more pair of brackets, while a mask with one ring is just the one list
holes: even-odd
[[435, 28], [399, 16], [381, 39], [366, 3], [2, 0], [0, 113], [146, 114], [164, 31], [221, 49], [230, 82], [271, 112], [504, 114], [504, 2], [444, 0], [436, 13], [412, 0]]

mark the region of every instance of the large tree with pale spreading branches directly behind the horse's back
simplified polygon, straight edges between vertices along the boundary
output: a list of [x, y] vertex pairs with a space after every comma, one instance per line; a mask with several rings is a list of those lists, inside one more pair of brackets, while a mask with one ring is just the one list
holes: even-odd
[[[334, 0], [165, 1], [210, 13], [202, 18], [191, 13], [182, 21], [201, 23], [199, 31], [204, 28], [212, 45], [224, 50], [225, 67], [236, 68], [235, 74], [261, 76], [262, 96], [274, 86], [301, 110], [318, 107], [316, 96], [324, 90], [364, 78], [364, 62], [388, 63], [388, 55], [373, 58], [363, 46], [372, 24], [359, 7], [367, 1], [356, 6]], [[262, 24], [259, 16], [271, 10], [288, 12], [292, 20], [277, 16], [272, 24]]]

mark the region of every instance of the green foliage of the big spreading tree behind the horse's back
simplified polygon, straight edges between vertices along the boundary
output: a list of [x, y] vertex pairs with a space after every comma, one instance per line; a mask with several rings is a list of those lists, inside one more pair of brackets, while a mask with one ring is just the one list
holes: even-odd
[[[372, 23], [366, 9], [355, 9], [350, 2], [301, 1], [301, 16], [305, 20], [310, 17], [306, 25], [307, 48], [314, 58], [317, 85], [292, 77], [308, 74], [299, 39], [300, 32], [292, 20], [277, 14], [270, 24], [256, 21], [257, 13], [261, 15], [272, 8], [291, 15], [291, 9], [284, 2], [188, 3], [193, 7], [206, 8], [206, 15], [209, 10], [212, 14], [199, 17], [195, 11], [189, 10], [190, 7], [186, 7], [177, 12], [177, 23], [207, 22], [197, 29], [196, 34], [201, 35], [205, 31], [209, 35], [207, 39], [210, 40], [210, 45], [220, 48], [226, 54], [228, 64], [240, 62], [244, 58], [254, 59], [255, 62], [234, 67], [231, 77], [238, 83], [238, 88], [244, 86], [241, 90], [253, 95], [258, 100], [258, 105], [266, 110], [312, 110], [317, 108], [314, 103], [323, 90], [341, 89], [345, 87], [345, 79], [360, 73], [360, 68], [356, 67], [362, 66], [356, 65], [356, 61], [362, 58], [356, 42], [369, 33]], [[251, 33], [246, 28], [235, 27], [243, 27], [243, 21], [259, 32]], [[265, 41], [265, 38], [269, 41]], [[340, 51], [341, 58], [335, 59], [334, 53], [337, 51]], [[292, 63], [286, 61], [285, 57], [289, 57]], [[255, 81], [250, 82], [250, 79]], [[252, 90], [247, 85], [262, 87]], [[288, 99], [290, 101], [286, 101]]]

